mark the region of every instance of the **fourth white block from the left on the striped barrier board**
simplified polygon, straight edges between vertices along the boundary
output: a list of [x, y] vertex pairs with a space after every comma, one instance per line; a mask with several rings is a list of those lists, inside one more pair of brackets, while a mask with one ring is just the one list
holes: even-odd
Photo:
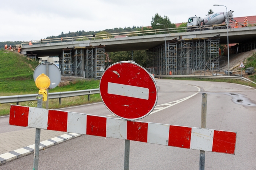
[[148, 123], [148, 143], [168, 145], [169, 125]]

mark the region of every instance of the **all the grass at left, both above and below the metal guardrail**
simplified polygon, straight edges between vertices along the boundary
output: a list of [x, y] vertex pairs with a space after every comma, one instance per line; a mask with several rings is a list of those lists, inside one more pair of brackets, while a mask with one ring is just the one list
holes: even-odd
[[[33, 79], [34, 69], [38, 64], [35, 60], [28, 59], [24, 55], [11, 51], [6, 53], [6, 51], [0, 50], [0, 96], [38, 93], [39, 89]], [[99, 88], [99, 80], [77, 80], [70, 82], [69, 85], [50, 89], [49, 93], [93, 88]], [[90, 101], [88, 101], [87, 96], [63, 98], [61, 105], [58, 99], [50, 99], [49, 108], [56, 109], [99, 101], [101, 101], [99, 94], [91, 95]], [[19, 102], [19, 105], [36, 107], [37, 101]], [[43, 102], [43, 108], [46, 108], [45, 105], [46, 102]], [[8, 115], [9, 108], [10, 104], [0, 104], [0, 116]]]

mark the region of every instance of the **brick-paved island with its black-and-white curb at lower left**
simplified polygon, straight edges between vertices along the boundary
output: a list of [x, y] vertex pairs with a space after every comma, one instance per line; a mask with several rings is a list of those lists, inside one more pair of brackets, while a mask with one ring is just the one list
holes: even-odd
[[[35, 128], [0, 133], [0, 164], [34, 152]], [[80, 136], [76, 133], [42, 130], [40, 149]]]

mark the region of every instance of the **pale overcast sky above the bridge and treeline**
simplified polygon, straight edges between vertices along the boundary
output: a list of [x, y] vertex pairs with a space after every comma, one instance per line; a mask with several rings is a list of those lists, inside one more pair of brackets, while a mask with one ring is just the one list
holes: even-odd
[[[246, 2], [246, 3], [245, 3]], [[75, 31], [151, 25], [156, 13], [171, 23], [205, 17], [209, 9], [256, 15], [256, 0], [12, 0], [1, 1], [0, 42], [44, 39]]]

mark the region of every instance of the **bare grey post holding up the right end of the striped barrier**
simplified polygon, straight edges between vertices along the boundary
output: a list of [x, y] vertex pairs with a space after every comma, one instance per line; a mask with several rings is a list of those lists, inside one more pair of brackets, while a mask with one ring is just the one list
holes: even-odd
[[[207, 93], [202, 93], [201, 128], [206, 128]], [[200, 150], [199, 170], [204, 170], [205, 151]]]

